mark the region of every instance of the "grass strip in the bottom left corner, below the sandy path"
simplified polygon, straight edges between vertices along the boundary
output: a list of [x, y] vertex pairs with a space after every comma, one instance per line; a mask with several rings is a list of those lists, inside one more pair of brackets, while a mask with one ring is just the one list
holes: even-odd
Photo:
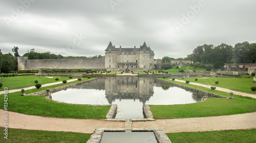
[[[3, 131], [5, 128], [0, 127]], [[2, 133], [0, 142], [87, 142], [92, 134], [8, 128], [8, 139]]]

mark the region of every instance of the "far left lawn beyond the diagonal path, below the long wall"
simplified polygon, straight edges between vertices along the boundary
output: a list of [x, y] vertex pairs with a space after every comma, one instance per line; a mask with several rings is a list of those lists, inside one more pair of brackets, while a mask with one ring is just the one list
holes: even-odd
[[[55, 78], [59, 78], [59, 80], [55, 80]], [[1, 77], [0, 82], [3, 83], [3, 87], [0, 88], [0, 91], [3, 91], [4, 87], [7, 87], [9, 90], [31, 87], [35, 85], [35, 82], [34, 82], [35, 80], [37, 80], [38, 83], [45, 84], [45, 83], [62, 81], [64, 79], [69, 80], [70, 78], [60, 77], [60, 76], [54, 76], [53, 78], [48, 78], [45, 76]]]

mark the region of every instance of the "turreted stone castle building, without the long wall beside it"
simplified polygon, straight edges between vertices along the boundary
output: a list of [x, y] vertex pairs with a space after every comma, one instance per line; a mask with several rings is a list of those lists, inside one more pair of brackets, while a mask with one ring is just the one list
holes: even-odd
[[154, 68], [154, 51], [144, 42], [139, 48], [116, 48], [110, 42], [105, 49], [105, 69], [143, 71]]

